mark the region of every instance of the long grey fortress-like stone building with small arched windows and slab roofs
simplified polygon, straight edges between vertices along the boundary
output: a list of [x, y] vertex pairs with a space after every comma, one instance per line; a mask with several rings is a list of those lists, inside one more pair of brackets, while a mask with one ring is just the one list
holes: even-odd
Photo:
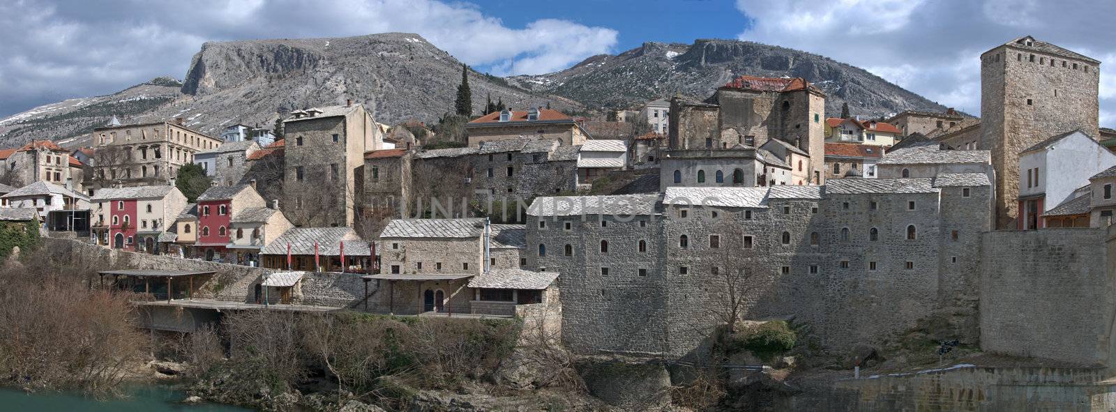
[[727, 322], [729, 282], [745, 318], [793, 317], [826, 348], [935, 316], [972, 343], [991, 210], [983, 173], [539, 198], [525, 255], [562, 274], [564, 338], [581, 353], [693, 354]]

